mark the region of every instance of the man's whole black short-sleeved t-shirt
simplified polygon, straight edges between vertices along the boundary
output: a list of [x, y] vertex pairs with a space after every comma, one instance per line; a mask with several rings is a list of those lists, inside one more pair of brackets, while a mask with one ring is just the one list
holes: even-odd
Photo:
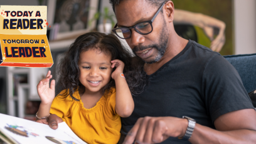
[[[219, 53], [189, 41], [173, 59], [149, 76], [149, 85], [134, 96], [134, 111], [122, 118], [122, 136], [144, 116], [189, 116], [200, 125], [230, 111], [253, 108], [237, 70]], [[163, 143], [189, 143], [168, 138]]]

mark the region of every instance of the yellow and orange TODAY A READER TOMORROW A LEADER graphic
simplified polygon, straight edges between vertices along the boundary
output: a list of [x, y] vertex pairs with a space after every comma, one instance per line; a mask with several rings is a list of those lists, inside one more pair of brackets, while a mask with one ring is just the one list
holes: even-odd
[[50, 68], [46, 6], [0, 6], [0, 66]]

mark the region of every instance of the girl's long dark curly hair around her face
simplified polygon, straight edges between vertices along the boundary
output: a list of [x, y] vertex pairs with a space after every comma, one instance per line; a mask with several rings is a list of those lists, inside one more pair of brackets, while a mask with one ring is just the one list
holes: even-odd
[[[105, 54], [111, 54], [111, 60], [119, 59], [124, 62], [124, 75], [133, 96], [138, 95], [147, 84], [147, 75], [143, 70], [144, 62], [138, 58], [132, 58], [132, 54], [122, 47], [119, 39], [114, 34], [86, 33], [75, 39], [58, 65], [60, 85], [58, 90], [66, 90], [65, 97], [70, 95], [73, 100], [79, 101], [73, 96], [75, 90], [80, 94], [85, 92], [85, 86], [79, 81], [80, 69], [78, 61], [80, 53], [90, 49], [97, 49]], [[113, 71], [115, 68], [113, 69]], [[110, 88], [115, 87], [115, 81], [111, 78], [100, 92], [104, 95]], [[69, 91], [69, 93], [68, 93]]]

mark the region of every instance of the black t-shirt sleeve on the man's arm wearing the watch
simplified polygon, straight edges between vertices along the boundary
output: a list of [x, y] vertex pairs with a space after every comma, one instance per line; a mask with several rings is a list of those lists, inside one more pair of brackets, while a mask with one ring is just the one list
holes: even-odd
[[206, 65], [202, 86], [212, 121], [231, 111], [253, 108], [240, 75], [223, 56], [214, 56]]

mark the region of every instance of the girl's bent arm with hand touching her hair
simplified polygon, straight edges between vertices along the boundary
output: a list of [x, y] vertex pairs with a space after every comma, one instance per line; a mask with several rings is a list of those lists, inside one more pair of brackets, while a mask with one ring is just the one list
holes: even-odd
[[[111, 67], [116, 67], [112, 73], [112, 78], [115, 80], [116, 96], [115, 96], [115, 111], [123, 118], [128, 117], [134, 110], [134, 101], [132, 99], [131, 91], [125, 80], [123, 70], [124, 63], [119, 59], [111, 61]], [[122, 74], [122, 76], [121, 76]]]

